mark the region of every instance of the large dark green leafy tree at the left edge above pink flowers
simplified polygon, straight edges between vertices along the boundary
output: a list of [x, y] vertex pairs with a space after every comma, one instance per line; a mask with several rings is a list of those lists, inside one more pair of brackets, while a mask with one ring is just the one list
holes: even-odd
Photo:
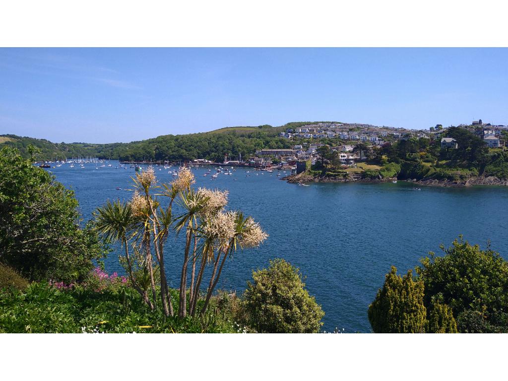
[[0, 262], [30, 280], [82, 279], [105, 248], [80, 228], [74, 193], [16, 149], [0, 151]]

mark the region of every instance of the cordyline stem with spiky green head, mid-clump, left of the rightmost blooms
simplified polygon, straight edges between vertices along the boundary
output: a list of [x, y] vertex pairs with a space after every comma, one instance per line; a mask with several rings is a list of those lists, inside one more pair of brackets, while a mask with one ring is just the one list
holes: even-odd
[[198, 216], [206, 206], [208, 199], [203, 197], [200, 192], [189, 188], [179, 193], [178, 205], [185, 211], [175, 218], [175, 230], [177, 235], [186, 227], [185, 251], [183, 255], [182, 272], [180, 276], [180, 303], [178, 306], [178, 316], [183, 318], [187, 314], [187, 265], [189, 260], [189, 249], [193, 234], [196, 234], [198, 226]]

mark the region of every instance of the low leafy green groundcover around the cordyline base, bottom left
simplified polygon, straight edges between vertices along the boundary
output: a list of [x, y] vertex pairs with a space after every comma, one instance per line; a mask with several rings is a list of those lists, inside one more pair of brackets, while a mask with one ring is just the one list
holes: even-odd
[[[178, 290], [171, 294], [176, 312]], [[26, 291], [0, 290], [0, 333], [80, 333], [82, 327], [90, 333], [236, 333], [238, 303], [236, 295], [219, 292], [204, 316], [178, 319], [165, 317], [160, 301], [150, 311], [127, 285], [97, 292], [81, 285], [59, 290], [31, 283]]]

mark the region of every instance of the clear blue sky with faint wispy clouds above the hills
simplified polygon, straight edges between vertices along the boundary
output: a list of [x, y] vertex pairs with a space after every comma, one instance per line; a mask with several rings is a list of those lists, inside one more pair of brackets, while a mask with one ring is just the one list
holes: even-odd
[[508, 124], [508, 49], [0, 49], [0, 134], [129, 142], [338, 120]]

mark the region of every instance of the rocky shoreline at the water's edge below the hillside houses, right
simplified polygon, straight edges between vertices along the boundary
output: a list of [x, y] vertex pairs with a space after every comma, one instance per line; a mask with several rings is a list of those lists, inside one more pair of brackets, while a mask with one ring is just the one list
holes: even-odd
[[[361, 182], [361, 183], [383, 183], [383, 182], [392, 182], [397, 180], [396, 177], [393, 178], [383, 178], [383, 179], [372, 179], [372, 178], [352, 178], [352, 177], [327, 177], [327, 176], [313, 176], [306, 174], [304, 172], [298, 175], [290, 175], [286, 177], [282, 177], [281, 180], [285, 180], [289, 183], [306, 183], [306, 182]], [[401, 181], [412, 182], [419, 185], [428, 185], [428, 186], [447, 186], [447, 187], [466, 187], [466, 186], [474, 186], [474, 185], [502, 185], [508, 186], [508, 180], [501, 180], [495, 176], [478, 176], [478, 177], [470, 177], [467, 180], [417, 180], [417, 179], [401, 179]]]

